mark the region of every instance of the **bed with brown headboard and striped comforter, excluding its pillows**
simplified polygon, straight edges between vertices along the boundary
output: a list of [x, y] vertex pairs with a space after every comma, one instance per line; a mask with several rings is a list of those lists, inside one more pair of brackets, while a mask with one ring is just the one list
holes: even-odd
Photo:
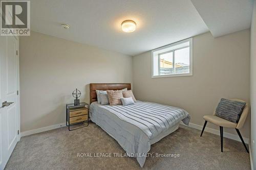
[[110, 106], [97, 103], [96, 90], [131, 89], [130, 83], [90, 84], [89, 115], [95, 124], [112, 136], [126, 152], [136, 157], [143, 167], [151, 144], [176, 131], [182, 120], [188, 125], [190, 116], [180, 108], [137, 101], [129, 106]]

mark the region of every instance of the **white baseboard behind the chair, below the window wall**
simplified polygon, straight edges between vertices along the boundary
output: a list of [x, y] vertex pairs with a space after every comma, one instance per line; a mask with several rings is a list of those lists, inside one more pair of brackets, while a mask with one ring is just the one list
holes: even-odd
[[[186, 126], [185, 124], [183, 124], [183, 122], [181, 122], [180, 124]], [[194, 129], [198, 129], [198, 130], [201, 130], [201, 131], [203, 129], [203, 126], [197, 125], [197, 124], [191, 124], [191, 123], [189, 123], [188, 127], [191, 127], [191, 128], [194, 128]], [[220, 136], [220, 131], [216, 130], [216, 129], [205, 127], [204, 132], [209, 132], [209, 133], [216, 134], [216, 135]], [[231, 133], [223, 132], [223, 137], [226, 137], [226, 138], [229, 138], [229, 139], [233, 139], [233, 140], [237, 140], [237, 141], [241, 142], [240, 137], [238, 135], [234, 135], [234, 134], [231, 134]], [[245, 143], [247, 143], [247, 144], [249, 143], [249, 139], [248, 138], [243, 137], [243, 139], [244, 139]]]

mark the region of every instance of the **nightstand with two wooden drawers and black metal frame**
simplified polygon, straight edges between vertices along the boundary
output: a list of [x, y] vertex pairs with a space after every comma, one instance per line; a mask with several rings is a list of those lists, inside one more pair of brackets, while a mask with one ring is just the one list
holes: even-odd
[[[73, 103], [66, 105], [66, 126], [69, 127], [69, 131], [89, 125], [88, 108], [89, 105], [84, 102], [80, 103], [78, 106], [75, 106]], [[87, 125], [70, 130], [70, 126], [82, 123], [87, 123]]]

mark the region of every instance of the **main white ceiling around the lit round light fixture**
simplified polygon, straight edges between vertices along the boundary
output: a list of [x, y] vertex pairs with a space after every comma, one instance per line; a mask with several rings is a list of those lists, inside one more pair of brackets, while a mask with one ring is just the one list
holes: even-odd
[[31, 30], [131, 56], [209, 31], [190, 0], [31, 0]]

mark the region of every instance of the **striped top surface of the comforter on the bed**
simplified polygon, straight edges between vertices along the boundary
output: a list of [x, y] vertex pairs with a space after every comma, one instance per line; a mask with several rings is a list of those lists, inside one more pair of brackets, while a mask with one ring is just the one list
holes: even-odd
[[120, 119], [140, 128], [150, 139], [179, 123], [180, 120], [188, 125], [190, 116], [187, 111], [150, 102], [136, 102], [129, 106], [100, 106]]

